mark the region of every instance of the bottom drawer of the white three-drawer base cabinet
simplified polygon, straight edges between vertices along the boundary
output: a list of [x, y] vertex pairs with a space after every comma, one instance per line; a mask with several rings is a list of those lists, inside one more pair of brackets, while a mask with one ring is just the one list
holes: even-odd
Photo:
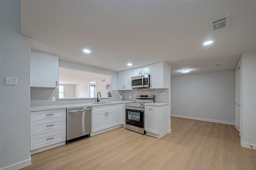
[[66, 129], [34, 135], [30, 137], [30, 150], [47, 147], [66, 140]]

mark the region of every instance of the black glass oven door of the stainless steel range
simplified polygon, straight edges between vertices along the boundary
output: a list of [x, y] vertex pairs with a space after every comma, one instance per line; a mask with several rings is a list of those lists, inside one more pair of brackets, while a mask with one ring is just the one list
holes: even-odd
[[125, 107], [126, 125], [135, 126], [144, 129], [144, 108], [142, 107]]

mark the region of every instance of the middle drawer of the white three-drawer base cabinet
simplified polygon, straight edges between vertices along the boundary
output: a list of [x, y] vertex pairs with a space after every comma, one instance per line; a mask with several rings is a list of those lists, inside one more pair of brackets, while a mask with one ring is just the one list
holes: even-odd
[[66, 117], [32, 121], [30, 123], [31, 136], [57, 131], [61, 129], [66, 129]]

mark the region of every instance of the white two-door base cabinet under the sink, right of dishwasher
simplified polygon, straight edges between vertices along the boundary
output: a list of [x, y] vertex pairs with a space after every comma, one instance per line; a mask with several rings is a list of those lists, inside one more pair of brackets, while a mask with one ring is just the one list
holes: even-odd
[[[102, 109], [104, 109], [102, 111]], [[93, 106], [92, 132], [118, 125], [118, 105]]]

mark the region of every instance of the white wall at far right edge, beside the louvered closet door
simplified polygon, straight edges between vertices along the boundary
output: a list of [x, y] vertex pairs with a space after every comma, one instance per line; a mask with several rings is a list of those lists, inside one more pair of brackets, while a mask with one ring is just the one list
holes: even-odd
[[256, 51], [242, 54], [242, 146], [256, 149]]

